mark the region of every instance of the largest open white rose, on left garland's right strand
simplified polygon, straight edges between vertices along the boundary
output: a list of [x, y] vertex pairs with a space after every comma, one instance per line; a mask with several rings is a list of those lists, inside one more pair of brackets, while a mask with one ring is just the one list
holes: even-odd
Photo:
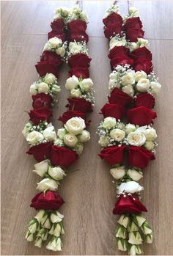
[[65, 124], [67, 131], [75, 135], [81, 134], [85, 127], [85, 121], [81, 117], [72, 117]]

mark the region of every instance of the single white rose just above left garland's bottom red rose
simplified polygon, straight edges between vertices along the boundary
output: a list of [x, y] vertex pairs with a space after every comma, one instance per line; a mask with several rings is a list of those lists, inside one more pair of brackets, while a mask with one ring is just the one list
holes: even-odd
[[36, 189], [40, 191], [46, 191], [46, 190], [56, 191], [58, 189], [58, 183], [51, 178], [45, 178], [37, 183]]

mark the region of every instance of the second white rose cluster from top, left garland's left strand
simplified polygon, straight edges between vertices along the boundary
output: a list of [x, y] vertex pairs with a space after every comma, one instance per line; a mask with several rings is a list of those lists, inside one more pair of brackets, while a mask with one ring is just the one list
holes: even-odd
[[67, 48], [67, 43], [62, 43], [59, 37], [52, 37], [45, 43], [43, 51], [54, 51], [61, 57], [65, 56], [65, 51]]

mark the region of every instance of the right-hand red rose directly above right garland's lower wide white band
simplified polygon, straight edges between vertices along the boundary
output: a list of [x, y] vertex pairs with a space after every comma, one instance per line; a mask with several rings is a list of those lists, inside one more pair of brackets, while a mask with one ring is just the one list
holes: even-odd
[[127, 111], [128, 122], [135, 125], [150, 125], [155, 117], [157, 117], [156, 112], [148, 109], [146, 106], [139, 106]]

